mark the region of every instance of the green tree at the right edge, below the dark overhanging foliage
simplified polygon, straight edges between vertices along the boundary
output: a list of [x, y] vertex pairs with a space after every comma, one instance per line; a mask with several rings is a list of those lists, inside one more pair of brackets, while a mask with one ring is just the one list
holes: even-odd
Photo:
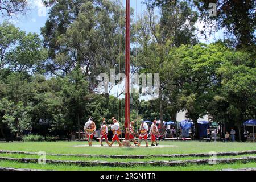
[[229, 122], [237, 127], [240, 140], [242, 123], [256, 117], [255, 71], [255, 57], [245, 51], [230, 51], [218, 69], [222, 75], [219, 96], [222, 102], [228, 103], [220, 113], [228, 115]]

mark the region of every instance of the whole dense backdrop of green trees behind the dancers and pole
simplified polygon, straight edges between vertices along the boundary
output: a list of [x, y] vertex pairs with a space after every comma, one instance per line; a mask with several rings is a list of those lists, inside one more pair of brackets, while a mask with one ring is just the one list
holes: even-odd
[[[102, 118], [110, 123], [113, 116], [123, 126], [123, 94], [100, 94], [96, 89], [99, 73], [109, 75], [113, 68], [122, 72], [125, 17], [119, 1], [44, 3], [49, 14], [42, 38], [7, 22], [0, 24], [1, 135], [31, 131], [64, 136], [82, 129], [89, 117], [97, 128]], [[251, 12], [255, 4], [218, 1], [219, 16], [207, 22], [203, 15], [208, 1], [193, 1], [198, 10], [191, 7], [192, 1], [145, 3], [147, 10], [131, 25], [136, 45], [131, 62], [139, 73], [159, 73], [159, 98], [145, 101], [142, 94], [131, 94], [131, 119], [176, 121], [177, 112], [185, 111], [195, 125], [208, 114], [210, 120], [229, 122], [241, 133], [242, 122], [256, 118], [255, 12]], [[206, 25], [214, 22], [228, 30], [232, 36], [225, 38], [232, 44], [200, 43], [196, 33], [200, 18]]]

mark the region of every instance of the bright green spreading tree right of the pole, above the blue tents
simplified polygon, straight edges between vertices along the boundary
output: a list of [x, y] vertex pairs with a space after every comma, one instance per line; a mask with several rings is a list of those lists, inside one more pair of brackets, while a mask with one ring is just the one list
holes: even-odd
[[164, 62], [166, 89], [172, 88], [172, 103], [187, 112], [196, 129], [197, 119], [208, 113], [208, 104], [221, 86], [217, 70], [225, 63], [228, 53], [222, 44], [183, 45], [172, 49]]

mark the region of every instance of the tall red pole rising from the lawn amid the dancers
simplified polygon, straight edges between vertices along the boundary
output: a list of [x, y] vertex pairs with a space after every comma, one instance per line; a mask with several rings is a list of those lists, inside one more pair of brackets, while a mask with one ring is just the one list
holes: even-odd
[[[126, 93], [125, 93], [125, 144], [129, 142], [130, 126], [130, 0], [126, 0], [126, 38], [125, 38], [125, 74], [126, 74]], [[128, 142], [127, 142], [128, 141]]]

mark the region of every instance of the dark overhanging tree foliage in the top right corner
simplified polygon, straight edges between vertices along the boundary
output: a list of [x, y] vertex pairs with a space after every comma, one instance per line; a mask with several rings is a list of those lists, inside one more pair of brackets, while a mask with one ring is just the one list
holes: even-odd
[[[237, 48], [255, 47], [255, 1], [193, 0], [191, 2], [199, 9], [200, 18], [205, 23], [205, 29], [214, 27], [217, 30], [224, 30], [226, 38], [229, 39], [232, 46]], [[209, 16], [210, 3], [216, 4], [217, 16]]]

